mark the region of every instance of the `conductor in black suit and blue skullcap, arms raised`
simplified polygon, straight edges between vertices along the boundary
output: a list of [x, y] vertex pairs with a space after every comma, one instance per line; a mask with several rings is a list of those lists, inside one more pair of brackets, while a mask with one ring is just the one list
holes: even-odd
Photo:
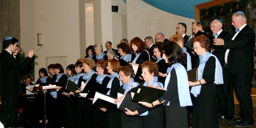
[[4, 127], [14, 127], [17, 111], [18, 95], [21, 94], [20, 71], [31, 65], [34, 50], [28, 52], [28, 57], [19, 63], [12, 55], [15, 52], [18, 39], [6, 37], [3, 41], [3, 51], [0, 53], [0, 94], [2, 107], [0, 121]]

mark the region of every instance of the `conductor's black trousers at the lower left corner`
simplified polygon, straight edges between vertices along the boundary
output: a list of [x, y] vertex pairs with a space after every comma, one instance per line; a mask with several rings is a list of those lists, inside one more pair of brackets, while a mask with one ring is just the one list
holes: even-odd
[[0, 121], [4, 127], [14, 127], [19, 95], [2, 95]]

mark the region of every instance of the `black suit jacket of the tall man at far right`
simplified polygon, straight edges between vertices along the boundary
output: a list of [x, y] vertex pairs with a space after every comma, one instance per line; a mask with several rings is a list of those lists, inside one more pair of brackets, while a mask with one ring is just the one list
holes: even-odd
[[253, 29], [246, 25], [238, 33], [234, 41], [231, 38], [225, 39], [224, 43], [224, 48], [230, 49], [227, 63], [228, 71], [233, 74], [253, 73], [253, 49], [255, 46], [255, 33]]

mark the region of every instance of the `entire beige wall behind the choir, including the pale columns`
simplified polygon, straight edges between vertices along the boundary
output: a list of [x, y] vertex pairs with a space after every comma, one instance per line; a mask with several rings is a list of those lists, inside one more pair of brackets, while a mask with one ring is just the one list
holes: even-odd
[[[85, 2], [20, 1], [21, 47], [26, 53], [29, 49], [36, 50], [39, 57], [36, 60], [39, 63], [35, 67], [36, 78], [39, 68], [47, 67], [46, 58], [66, 57], [69, 65], [84, 57], [85, 48], [95, 42], [105, 46], [106, 41], [111, 41], [116, 48], [122, 38], [154, 37], [159, 31], [169, 38], [175, 34], [178, 22], [187, 23], [187, 33], [191, 34], [191, 22], [194, 19], [166, 13], [143, 1], [129, 0], [124, 4], [122, 0], [101, 0], [94, 1], [93, 5]], [[111, 5], [118, 5], [118, 13], [102, 12], [110, 10]], [[93, 7], [93, 11], [87, 10], [89, 7]], [[42, 33], [43, 47], [37, 46], [37, 33]]]

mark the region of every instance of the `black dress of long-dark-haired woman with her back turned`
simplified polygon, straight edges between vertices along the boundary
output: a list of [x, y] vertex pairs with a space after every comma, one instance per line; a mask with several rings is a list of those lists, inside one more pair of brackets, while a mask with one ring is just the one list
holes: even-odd
[[[180, 107], [177, 75], [174, 68], [170, 74], [167, 91], [162, 98], [158, 99], [159, 102], [165, 100], [163, 104], [165, 106], [165, 127], [188, 127], [187, 109]], [[169, 101], [170, 105], [166, 106]]]

